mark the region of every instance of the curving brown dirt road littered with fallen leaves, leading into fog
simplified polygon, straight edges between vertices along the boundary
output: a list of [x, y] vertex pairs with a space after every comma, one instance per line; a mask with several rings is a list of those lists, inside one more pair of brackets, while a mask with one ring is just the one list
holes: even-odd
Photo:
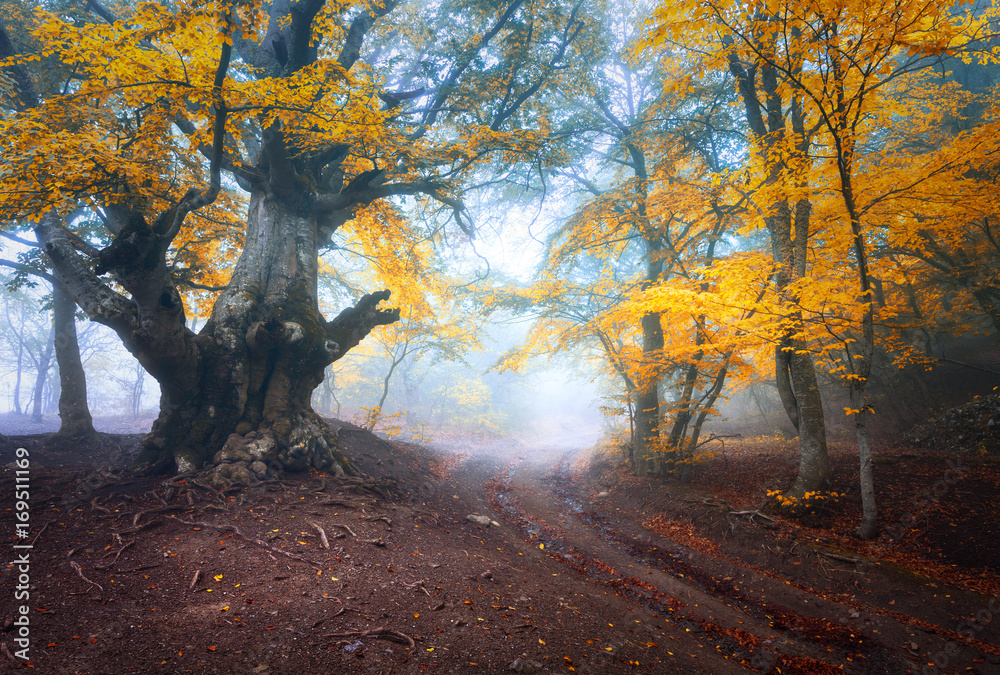
[[[588, 582], [586, 592], [574, 594], [589, 605], [581, 611], [606, 612], [624, 622], [618, 626], [643, 628], [621, 636], [619, 649], [634, 650], [635, 660], [652, 660], [658, 669], [705, 673], [916, 673], [927, 663], [919, 655], [929, 653], [937, 655], [937, 663], [927, 672], [946, 672], [948, 663], [953, 669], [962, 666], [956, 672], [966, 667], [1000, 672], [977, 645], [963, 643], [950, 630], [957, 620], [951, 626], [927, 621], [961, 616], [956, 604], [963, 602], [967, 611], [975, 611], [983, 598], [968, 594], [956, 600], [963, 594], [934, 593], [926, 584], [900, 583], [891, 573], [864, 564], [856, 569], [844, 560], [841, 567], [851, 568], [850, 575], [863, 577], [864, 583], [835, 584], [854, 591], [849, 593], [854, 602], [838, 602], [828, 592], [810, 592], [819, 585], [808, 583], [813, 575], [801, 580], [806, 583], [790, 583], [744, 563], [738, 543], [728, 553], [713, 546], [706, 553], [659, 537], [641, 527], [644, 500], [630, 494], [628, 485], [611, 487], [606, 475], [610, 490], [596, 482], [601, 475], [588, 471], [586, 440], [529, 443], [503, 466], [500, 457], [480, 456], [460, 473], [467, 484], [489, 475], [482, 481], [483, 499], [522, 538], [537, 542], [539, 553]], [[768, 531], [760, 528], [770, 524], [766, 519], [727, 515], [734, 532], [742, 530], [735, 540], [749, 536], [751, 542], [765, 543]], [[794, 554], [794, 544], [789, 548]], [[802, 551], [812, 551], [808, 542]], [[802, 559], [808, 562], [807, 556]], [[922, 611], [896, 611], [893, 600], [883, 606], [884, 597], [894, 594], [919, 594]]]

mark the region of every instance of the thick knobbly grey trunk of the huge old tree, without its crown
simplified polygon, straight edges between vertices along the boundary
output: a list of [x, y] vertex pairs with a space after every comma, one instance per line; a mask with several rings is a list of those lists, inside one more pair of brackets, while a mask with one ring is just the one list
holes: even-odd
[[313, 411], [312, 392], [330, 363], [398, 311], [376, 308], [389, 296], [383, 291], [326, 321], [317, 303], [317, 238], [307, 209], [252, 194], [243, 254], [211, 319], [185, 337], [183, 367], [147, 367], [160, 383], [161, 412], [141, 462], [173, 460], [181, 472], [211, 460], [246, 462], [258, 474], [264, 469], [254, 462], [353, 471]]

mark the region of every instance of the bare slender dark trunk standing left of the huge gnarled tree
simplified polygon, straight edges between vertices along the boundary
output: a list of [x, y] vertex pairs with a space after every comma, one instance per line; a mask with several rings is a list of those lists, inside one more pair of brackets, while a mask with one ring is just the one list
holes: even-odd
[[76, 336], [76, 302], [60, 282], [52, 285], [52, 321], [59, 365], [59, 434], [69, 438], [94, 436], [87, 406], [87, 376]]

